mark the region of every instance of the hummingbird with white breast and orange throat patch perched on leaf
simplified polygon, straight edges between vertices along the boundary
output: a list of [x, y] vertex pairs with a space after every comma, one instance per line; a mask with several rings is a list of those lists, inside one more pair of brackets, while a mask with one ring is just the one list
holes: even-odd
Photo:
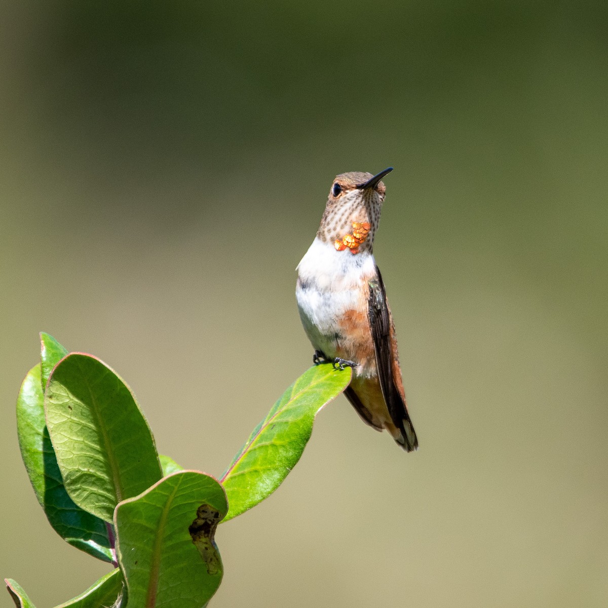
[[373, 244], [386, 188], [382, 178], [341, 173], [330, 194], [313, 244], [297, 266], [300, 319], [313, 362], [353, 368], [344, 392], [362, 420], [386, 429], [407, 452], [418, 438], [407, 413], [395, 325]]

